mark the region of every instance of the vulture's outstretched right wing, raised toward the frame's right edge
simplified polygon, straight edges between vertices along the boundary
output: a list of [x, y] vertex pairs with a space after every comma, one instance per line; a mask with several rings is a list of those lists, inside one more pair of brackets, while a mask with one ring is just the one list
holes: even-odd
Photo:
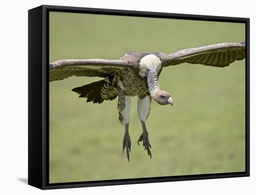
[[184, 49], [167, 55], [164, 66], [182, 63], [225, 67], [235, 60], [245, 58], [245, 42], [219, 43], [192, 49]]

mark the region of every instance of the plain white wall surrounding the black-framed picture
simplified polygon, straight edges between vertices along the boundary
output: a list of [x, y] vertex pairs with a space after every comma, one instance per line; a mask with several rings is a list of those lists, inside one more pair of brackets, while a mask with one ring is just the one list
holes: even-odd
[[[42, 191], [27, 182], [27, 10], [45, 5], [189, 13], [250, 18], [251, 176]], [[0, 194], [253, 194], [256, 192], [256, 12], [253, 0], [37, 0], [2, 1], [0, 11]], [[171, 35], [170, 35], [171, 36]]]

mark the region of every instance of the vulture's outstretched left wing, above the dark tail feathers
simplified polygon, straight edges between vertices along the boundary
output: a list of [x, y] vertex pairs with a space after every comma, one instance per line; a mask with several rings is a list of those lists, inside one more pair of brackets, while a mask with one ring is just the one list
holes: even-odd
[[102, 77], [120, 73], [130, 67], [125, 59], [62, 59], [49, 65], [49, 81], [62, 80], [72, 76]]

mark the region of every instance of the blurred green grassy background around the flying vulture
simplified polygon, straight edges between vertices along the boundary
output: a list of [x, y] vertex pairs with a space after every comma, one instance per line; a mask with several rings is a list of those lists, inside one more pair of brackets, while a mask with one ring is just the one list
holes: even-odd
[[[50, 62], [117, 59], [136, 52], [176, 52], [242, 42], [238, 23], [50, 13]], [[152, 159], [137, 145], [142, 128], [132, 97], [130, 163], [117, 99], [86, 103], [71, 91], [101, 78], [50, 83], [50, 183], [180, 176], [245, 170], [245, 60], [226, 68], [183, 64], [164, 68], [160, 86], [174, 106], [152, 101], [146, 123]]]

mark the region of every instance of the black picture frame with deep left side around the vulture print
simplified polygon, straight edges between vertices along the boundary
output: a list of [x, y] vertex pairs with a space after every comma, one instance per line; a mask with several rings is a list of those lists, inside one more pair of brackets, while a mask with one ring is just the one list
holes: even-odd
[[[245, 171], [188, 176], [164, 176], [93, 182], [49, 183], [49, 12], [94, 13], [167, 19], [244, 23], [246, 28]], [[28, 11], [28, 184], [40, 189], [62, 189], [150, 182], [171, 182], [249, 176], [249, 18], [155, 13], [43, 5]]]

